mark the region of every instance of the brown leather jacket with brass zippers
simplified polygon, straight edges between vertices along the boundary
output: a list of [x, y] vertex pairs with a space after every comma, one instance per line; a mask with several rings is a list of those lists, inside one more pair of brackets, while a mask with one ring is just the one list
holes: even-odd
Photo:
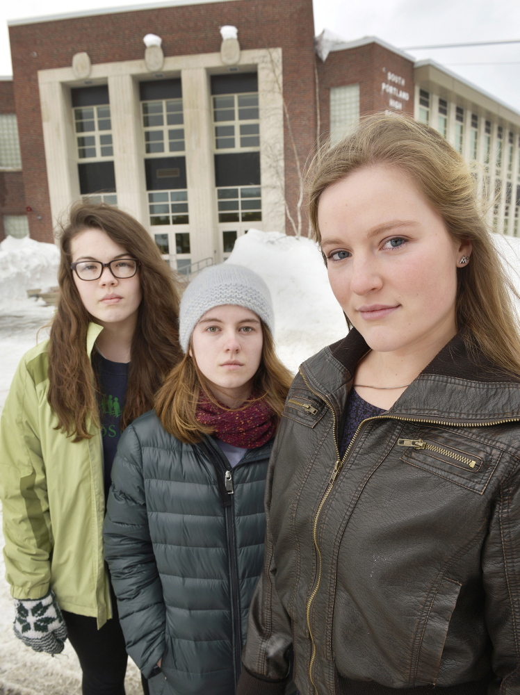
[[289, 392], [238, 693], [282, 692], [292, 644], [302, 695], [520, 695], [520, 379], [456, 336], [340, 461], [366, 350], [352, 330]]

